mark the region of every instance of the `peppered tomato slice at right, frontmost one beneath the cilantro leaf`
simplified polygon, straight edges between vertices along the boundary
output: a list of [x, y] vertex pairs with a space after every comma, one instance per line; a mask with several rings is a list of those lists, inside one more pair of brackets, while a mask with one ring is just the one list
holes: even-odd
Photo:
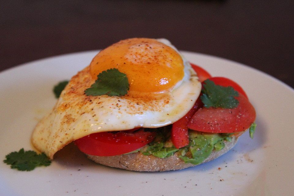
[[239, 94], [235, 97], [239, 105], [235, 108], [200, 108], [188, 123], [192, 130], [208, 133], [236, 133], [247, 130], [256, 118], [254, 107]]

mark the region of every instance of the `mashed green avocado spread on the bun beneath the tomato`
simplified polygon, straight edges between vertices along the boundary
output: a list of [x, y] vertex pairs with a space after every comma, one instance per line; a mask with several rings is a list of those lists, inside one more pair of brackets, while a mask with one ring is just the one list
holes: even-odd
[[211, 134], [189, 130], [189, 145], [177, 149], [172, 144], [170, 133], [158, 132], [156, 138], [139, 151], [144, 155], [153, 155], [159, 158], [172, 156], [175, 152], [181, 154], [179, 158], [186, 163], [200, 164], [213, 150], [219, 151], [224, 148], [224, 141], [231, 141], [230, 134]]

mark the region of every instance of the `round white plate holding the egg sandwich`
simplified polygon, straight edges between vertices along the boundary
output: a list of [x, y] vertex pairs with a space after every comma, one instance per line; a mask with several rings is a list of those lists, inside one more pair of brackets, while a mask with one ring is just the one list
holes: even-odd
[[[0, 73], [0, 158], [33, 149], [32, 130], [55, 104], [52, 88], [87, 66], [97, 51], [61, 55]], [[294, 195], [294, 91], [258, 70], [226, 59], [183, 54], [213, 76], [229, 77], [257, 112], [254, 139], [243, 134], [209, 163], [168, 172], [109, 168], [66, 146], [49, 167], [24, 172], [0, 163], [0, 195]]]

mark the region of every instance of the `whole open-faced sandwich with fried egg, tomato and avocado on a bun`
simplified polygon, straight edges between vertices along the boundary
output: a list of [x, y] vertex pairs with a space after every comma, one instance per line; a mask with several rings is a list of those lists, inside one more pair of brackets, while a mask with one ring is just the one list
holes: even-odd
[[226, 153], [255, 116], [234, 81], [191, 65], [168, 40], [132, 38], [71, 78], [32, 143], [50, 159], [74, 142], [107, 166], [178, 170]]

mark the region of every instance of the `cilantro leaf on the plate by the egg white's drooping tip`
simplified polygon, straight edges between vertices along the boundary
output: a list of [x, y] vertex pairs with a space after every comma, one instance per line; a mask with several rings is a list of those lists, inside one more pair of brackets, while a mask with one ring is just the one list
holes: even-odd
[[37, 166], [49, 166], [51, 164], [51, 160], [44, 153], [37, 154], [32, 150], [24, 151], [23, 148], [18, 152], [6, 155], [5, 158], [4, 163], [11, 165], [10, 168], [19, 171], [31, 171]]

